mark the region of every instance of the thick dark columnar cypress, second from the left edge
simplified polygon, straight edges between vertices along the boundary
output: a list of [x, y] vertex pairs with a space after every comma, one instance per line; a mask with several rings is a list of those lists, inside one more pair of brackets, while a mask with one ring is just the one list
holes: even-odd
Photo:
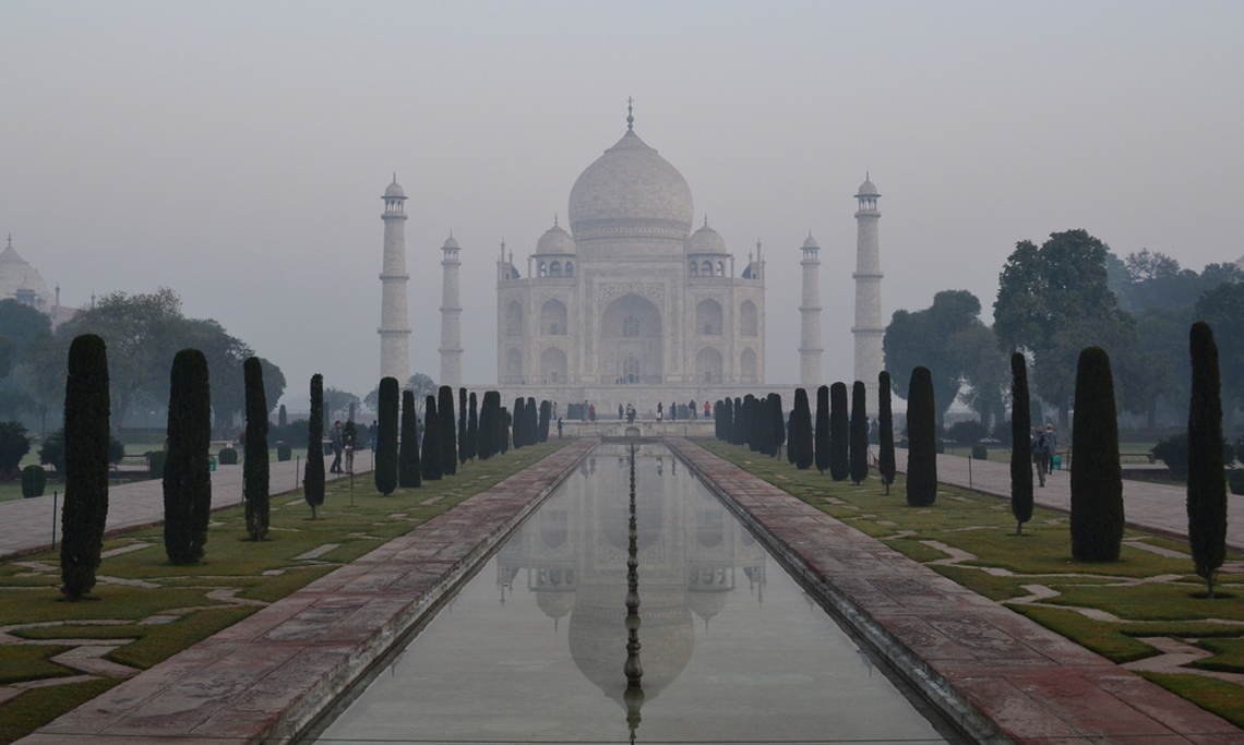
[[203, 560], [211, 515], [210, 447], [208, 358], [198, 349], [182, 349], [169, 374], [164, 460], [164, 551], [173, 563]]

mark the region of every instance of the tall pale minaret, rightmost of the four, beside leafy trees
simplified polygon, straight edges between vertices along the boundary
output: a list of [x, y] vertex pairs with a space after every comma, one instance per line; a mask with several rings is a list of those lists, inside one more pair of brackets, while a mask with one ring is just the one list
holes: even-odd
[[877, 412], [877, 374], [884, 366], [881, 341], [886, 326], [881, 321], [881, 246], [877, 243], [877, 187], [867, 174], [860, 184], [860, 209], [856, 211], [856, 322], [851, 333], [856, 337], [856, 374], [867, 391], [867, 409]]

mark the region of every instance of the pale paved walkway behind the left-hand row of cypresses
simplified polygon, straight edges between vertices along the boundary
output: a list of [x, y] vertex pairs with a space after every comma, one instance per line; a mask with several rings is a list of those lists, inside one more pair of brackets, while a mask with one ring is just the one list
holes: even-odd
[[[285, 494], [302, 488], [301, 469], [304, 460], [272, 460], [269, 465], [269, 489], [272, 495]], [[332, 463], [330, 455], [325, 469]], [[355, 458], [355, 478], [372, 470], [372, 453], [363, 450]], [[211, 509], [220, 510], [241, 504], [241, 465], [219, 465], [211, 474]], [[326, 473], [328, 481], [345, 476]], [[62, 488], [49, 485], [50, 488]], [[60, 541], [60, 507], [65, 495], [56, 499], [56, 511], [52, 511], [51, 494], [34, 499], [15, 499], [0, 502], [0, 558], [22, 553], [32, 553], [52, 547], [52, 526], [56, 540]], [[106, 532], [116, 532], [164, 520], [164, 493], [162, 481], [133, 481], [108, 489], [108, 522]]]

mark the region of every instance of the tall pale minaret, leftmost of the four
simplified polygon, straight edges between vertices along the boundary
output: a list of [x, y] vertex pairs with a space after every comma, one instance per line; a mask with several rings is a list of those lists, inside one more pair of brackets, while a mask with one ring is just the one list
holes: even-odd
[[406, 192], [393, 183], [384, 189], [384, 265], [381, 269], [381, 377], [411, 378], [411, 322], [406, 312]]

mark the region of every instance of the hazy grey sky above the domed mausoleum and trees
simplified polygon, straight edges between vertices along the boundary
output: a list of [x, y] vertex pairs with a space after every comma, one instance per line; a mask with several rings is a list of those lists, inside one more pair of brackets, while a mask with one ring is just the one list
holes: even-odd
[[[466, 381], [496, 379], [495, 261], [626, 129], [768, 261], [768, 379], [799, 374], [821, 245], [825, 374], [852, 371], [856, 188], [883, 316], [1084, 228], [1199, 270], [1244, 254], [1244, 2], [0, 0], [0, 231], [62, 302], [175, 290], [307, 379], [379, 369], [379, 199], [411, 197], [412, 371], [462, 243]], [[741, 271], [741, 270], [740, 270]]]

